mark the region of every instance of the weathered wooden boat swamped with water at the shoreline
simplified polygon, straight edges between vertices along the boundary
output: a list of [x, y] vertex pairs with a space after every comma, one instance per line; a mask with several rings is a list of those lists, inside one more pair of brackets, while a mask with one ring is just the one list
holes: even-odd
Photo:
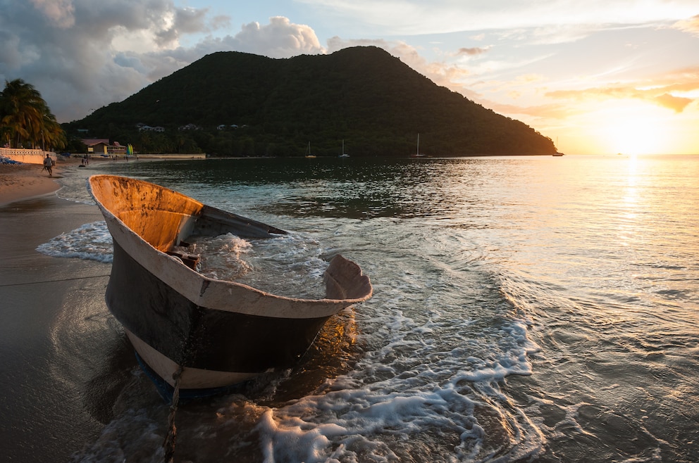
[[371, 297], [369, 277], [341, 255], [326, 269], [323, 299], [204, 277], [195, 270], [196, 255], [175, 251], [190, 236], [287, 232], [137, 179], [95, 175], [87, 187], [113, 239], [106, 305], [151, 379], [164, 381], [170, 393], [178, 386], [180, 394], [209, 395], [292, 367], [328, 318]]

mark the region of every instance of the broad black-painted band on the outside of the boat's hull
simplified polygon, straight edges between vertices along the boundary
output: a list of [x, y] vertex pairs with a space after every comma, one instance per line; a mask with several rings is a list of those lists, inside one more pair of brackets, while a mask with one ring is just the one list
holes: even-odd
[[235, 300], [230, 301], [231, 310], [202, 307], [145, 269], [118, 243], [106, 303], [125, 329], [175, 364], [248, 375], [292, 367], [329, 317], [249, 315], [235, 311]]

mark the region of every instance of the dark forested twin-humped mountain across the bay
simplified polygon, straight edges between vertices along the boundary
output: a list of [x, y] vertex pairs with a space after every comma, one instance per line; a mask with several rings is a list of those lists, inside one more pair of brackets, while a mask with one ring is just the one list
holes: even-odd
[[429, 156], [556, 151], [531, 127], [373, 46], [285, 59], [212, 53], [66, 129], [142, 152], [214, 156], [303, 156], [309, 142], [313, 154], [337, 156], [343, 139], [351, 156], [409, 156], [418, 134]]

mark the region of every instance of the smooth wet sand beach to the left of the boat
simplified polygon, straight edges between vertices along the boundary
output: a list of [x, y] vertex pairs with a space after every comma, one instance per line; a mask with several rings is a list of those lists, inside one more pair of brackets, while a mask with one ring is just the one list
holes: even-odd
[[68, 461], [109, 422], [110, 391], [135, 363], [104, 304], [111, 265], [36, 250], [102, 219], [97, 206], [58, 198], [57, 189], [39, 166], [0, 166], [3, 461]]

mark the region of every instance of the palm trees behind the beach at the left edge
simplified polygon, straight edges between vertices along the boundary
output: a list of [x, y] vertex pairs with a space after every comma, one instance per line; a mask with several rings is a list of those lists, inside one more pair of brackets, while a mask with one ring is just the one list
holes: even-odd
[[10, 148], [61, 149], [66, 133], [32, 84], [5, 81], [0, 92], [0, 140]]

